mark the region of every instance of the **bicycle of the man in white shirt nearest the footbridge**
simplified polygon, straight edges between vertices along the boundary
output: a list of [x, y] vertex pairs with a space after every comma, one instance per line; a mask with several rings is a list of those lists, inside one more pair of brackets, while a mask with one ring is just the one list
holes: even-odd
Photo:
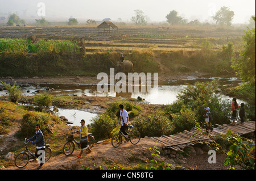
[[127, 140], [131, 142], [131, 144], [136, 145], [138, 144], [139, 140], [141, 140], [141, 133], [138, 131], [132, 131], [131, 129], [133, 128], [133, 125], [128, 126], [128, 130], [126, 131], [128, 134], [128, 137], [125, 137], [125, 134], [121, 131], [121, 127], [118, 133], [115, 133], [114, 136], [112, 137], [111, 143], [114, 148], [117, 148], [119, 145], [121, 145], [123, 141], [123, 137], [125, 137]]

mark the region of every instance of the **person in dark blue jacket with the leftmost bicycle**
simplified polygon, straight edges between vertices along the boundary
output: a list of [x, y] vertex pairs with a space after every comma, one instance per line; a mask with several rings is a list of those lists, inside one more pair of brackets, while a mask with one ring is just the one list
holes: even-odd
[[[44, 134], [42, 133], [42, 131], [40, 130], [40, 125], [36, 124], [35, 125], [35, 134], [33, 137], [29, 138], [26, 141], [31, 141], [31, 144], [35, 144], [36, 145], [36, 151], [35, 151], [35, 156], [36, 158], [38, 158], [41, 154], [38, 154], [39, 150], [44, 150], [46, 148], [45, 142], [44, 142]], [[43, 159], [44, 157], [42, 157]], [[38, 167], [38, 169], [41, 169], [43, 167], [44, 161], [42, 160], [38, 160], [38, 162], [40, 162], [40, 165]]]

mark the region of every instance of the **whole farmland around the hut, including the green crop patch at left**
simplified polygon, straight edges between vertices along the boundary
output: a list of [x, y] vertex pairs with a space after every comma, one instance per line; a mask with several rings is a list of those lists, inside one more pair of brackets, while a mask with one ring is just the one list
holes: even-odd
[[[112, 36], [99, 36], [97, 27], [0, 27], [0, 52], [26, 53], [56, 52], [79, 53], [74, 40], [84, 39], [86, 52], [99, 50], [196, 50], [201, 41], [209, 41], [214, 49], [232, 41], [234, 48], [242, 43], [242, 30], [194, 30], [191, 28], [119, 28]], [[27, 41], [35, 36], [38, 41]]]

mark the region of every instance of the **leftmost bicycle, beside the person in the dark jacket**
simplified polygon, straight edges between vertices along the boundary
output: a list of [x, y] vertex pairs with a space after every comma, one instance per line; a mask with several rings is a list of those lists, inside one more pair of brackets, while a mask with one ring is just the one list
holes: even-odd
[[[30, 160], [30, 157], [32, 157], [33, 159], [36, 159], [35, 154], [32, 154], [30, 150], [27, 148], [27, 144], [30, 141], [26, 142], [26, 140], [27, 138], [25, 138], [25, 141], [24, 141], [25, 150], [20, 152], [18, 155], [16, 155], [14, 160], [15, 166], [18, 168], [23, 168], [24, 166], [26, 166], [28, 161]], [[52, 155], [52, 150], [51, 148], [49, 148], [49, 146], [50, 146], [49, 144], [46, 144], [46, 148], [44, 149], [45, 162], [47, 162]]]

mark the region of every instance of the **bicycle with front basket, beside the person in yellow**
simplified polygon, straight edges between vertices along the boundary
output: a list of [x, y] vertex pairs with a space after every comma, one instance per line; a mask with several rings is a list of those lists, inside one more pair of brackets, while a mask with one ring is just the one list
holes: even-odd
[[[75, 144], [77, 144], [79, 149], [81, 148], [80, 142], [77, 142], [75, 137], [73, 136], [74, 133], [79, 132], [79, 131], [76, 130], [76, 131], [71, 132], [71, 130], [72, 130], [72, 127], [70, 127], [70, 129], [69, 129], [69, 132], [71, 133], [71, 135], [66, 137], [67, 142], [63, 146], [63, 153], [67, 156], [71, 155], [74, 152], [75, 147], [76, 147]], [[92, 136], [92, 133], [88, 133], [87, 136], [88, 136], [88, 146], [90, 148], [92, 148], [94, 145], [94, 137]]]

